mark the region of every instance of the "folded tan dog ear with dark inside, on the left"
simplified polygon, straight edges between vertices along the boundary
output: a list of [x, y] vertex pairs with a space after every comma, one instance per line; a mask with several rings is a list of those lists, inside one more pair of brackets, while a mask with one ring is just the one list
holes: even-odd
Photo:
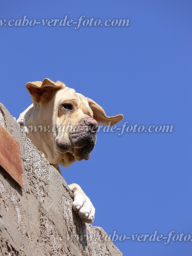
[[34, 102], [47, 103], [53, 97], [55, 90], [64, 88], [65, 85], [60, 81], [55, 83], [50, 79], [45, 78], [43, 82], [28, 82], [26, 87]]

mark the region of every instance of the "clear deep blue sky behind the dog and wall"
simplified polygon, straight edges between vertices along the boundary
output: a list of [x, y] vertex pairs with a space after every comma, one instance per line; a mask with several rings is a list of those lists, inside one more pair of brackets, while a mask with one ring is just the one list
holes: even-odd
[[[134, 125], [172, 133], [97, 134], [88, 161], [62, 168], [96, 207], [107, 233], [192, 235], [192, 2], [9, 1], [0, 19], [130, 19], [130, 25], [0, 27], [0, 101], [14, 117], [31, 104], [25, 84], [60, 80]], [[191, 241], [115, 245], [125, 256], [191, 255]]]

